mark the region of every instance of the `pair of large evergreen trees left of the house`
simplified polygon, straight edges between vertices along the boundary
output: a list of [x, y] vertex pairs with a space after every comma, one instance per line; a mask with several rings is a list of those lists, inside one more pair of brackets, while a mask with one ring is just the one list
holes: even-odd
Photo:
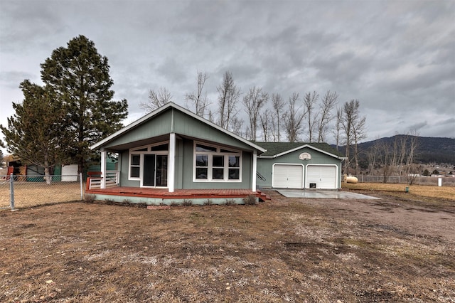
[[85, 36], [53, 50], [41, 64], [41, 80], [43, 86], [23, 80], [23, 102], [13, 102], [15, 114], [0, 129], [8, 150], [43, 167], [50, 182], [56, 164], [78, 164], [82, 172], [94, 156], [90, 145], [122, 128], [128, 104], [112, 100], [107, 58]]

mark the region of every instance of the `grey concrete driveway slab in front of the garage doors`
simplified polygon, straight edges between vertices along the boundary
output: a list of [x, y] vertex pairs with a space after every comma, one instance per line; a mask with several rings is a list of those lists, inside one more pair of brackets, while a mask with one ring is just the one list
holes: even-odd
[[361, 193], [350, 193], [348, 191], [330, 191], [323, 189], [277, 189], [279, 193], [287, 198], [331, 198], [331, 199], [380, 199]]

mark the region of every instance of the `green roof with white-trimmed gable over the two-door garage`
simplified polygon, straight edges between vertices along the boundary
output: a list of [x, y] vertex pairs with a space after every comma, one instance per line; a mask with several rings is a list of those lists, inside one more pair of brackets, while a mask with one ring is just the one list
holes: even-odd
[[255, 142], [264, 149], [267, 149], [264, 154], [261, 154], [261, 158], [276, 158], [284, 154], [289, 154], [293, 151], [308, 147], [314, 149], [328, 156], [333, 156], [337, 159], [344, 159], [343, 154], [328, 145], [327, 143], [309, 143], [309, 142]]

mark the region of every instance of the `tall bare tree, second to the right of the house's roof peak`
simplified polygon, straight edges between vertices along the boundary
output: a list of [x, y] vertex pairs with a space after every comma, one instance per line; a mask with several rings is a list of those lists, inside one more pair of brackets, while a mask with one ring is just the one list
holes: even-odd
[[237, 103], [240, 99], [240, 88], [234, 84], [232, 73], [225, 72], [223, 82], [218, 90], [218, 125], [224, 129], [230, 128], [231, 120], [235, 116]]

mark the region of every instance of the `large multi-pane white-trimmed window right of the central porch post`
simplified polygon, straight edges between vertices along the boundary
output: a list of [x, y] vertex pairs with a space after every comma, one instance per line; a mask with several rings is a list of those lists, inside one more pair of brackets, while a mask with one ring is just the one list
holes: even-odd
[[194, 143], [194, 181], [241, 181], [240, 151]]

